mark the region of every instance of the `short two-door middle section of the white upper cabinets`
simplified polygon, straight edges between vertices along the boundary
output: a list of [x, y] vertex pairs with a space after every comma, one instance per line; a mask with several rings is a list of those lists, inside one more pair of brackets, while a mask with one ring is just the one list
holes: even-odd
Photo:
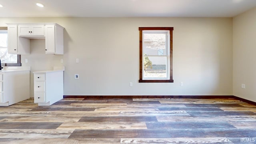
[[44, 36], [44, 25], [18, 25], [18, 36]]

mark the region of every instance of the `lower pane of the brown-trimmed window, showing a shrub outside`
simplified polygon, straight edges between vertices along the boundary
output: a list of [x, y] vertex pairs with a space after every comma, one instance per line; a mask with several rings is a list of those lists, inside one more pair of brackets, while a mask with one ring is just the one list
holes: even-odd
[[144, 78], [166, 78], [165, 56], [144, 56]]

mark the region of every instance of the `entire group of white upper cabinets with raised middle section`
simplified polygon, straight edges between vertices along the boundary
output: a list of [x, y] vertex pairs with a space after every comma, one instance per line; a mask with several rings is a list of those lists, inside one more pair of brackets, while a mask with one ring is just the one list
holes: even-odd
[[46, 54], [63, 54], [63, 30], [56, 23], [8, 23], [8, 53], [30, 54], [30, 39], [45, 39]]

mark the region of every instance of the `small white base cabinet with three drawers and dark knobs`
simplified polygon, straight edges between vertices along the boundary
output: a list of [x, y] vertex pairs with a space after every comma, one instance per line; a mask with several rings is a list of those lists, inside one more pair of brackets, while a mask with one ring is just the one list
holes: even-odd
[[34, 72], [34, 103], [50, 106], [63, 98], [63, 70]]

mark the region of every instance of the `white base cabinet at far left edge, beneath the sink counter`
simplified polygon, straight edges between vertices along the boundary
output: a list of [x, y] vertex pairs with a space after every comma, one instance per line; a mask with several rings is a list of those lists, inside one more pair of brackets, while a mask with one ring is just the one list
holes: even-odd
[[0, 106], [30, 98], [30, 70], [0, 71]]

